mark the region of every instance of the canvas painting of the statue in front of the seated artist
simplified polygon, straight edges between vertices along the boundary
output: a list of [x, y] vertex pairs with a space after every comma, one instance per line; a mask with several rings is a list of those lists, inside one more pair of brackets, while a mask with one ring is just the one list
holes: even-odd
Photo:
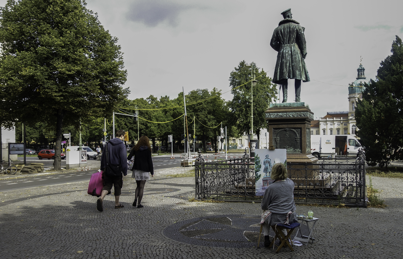
[[264, 195], [264, 191], [273, 183], [271, 173], [276, 163], [283, 163], [287, 167], [286, 149], [255, 149], [256, 196]]

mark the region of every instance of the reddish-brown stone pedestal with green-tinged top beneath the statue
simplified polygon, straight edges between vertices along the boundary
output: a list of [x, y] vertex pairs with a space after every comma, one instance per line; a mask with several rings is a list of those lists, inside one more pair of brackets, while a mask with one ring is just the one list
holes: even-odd
[[311, 121], [314, 113], [305, 103], [271, 103], [265, 112], [269, 149], [287, 149], [287, 162], [314, 163], [311, 154]]

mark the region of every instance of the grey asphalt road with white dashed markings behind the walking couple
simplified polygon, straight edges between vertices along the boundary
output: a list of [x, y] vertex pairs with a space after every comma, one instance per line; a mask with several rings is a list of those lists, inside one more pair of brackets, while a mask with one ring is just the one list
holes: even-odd
[[[242, 157], [243, 154], [228, 154], [228, 158]], [[214, 154], [204, 157], [204, 159], [225, 159], [225, 154], [219, 154], [215, 156]], [[23, 157], [19, 157], [18, 160], [23, 160]], [[153, 156], [152, 158], [154, 164], [154, 170], [172, 168], [181, 166], [181, 160], [183, 158], [177, 157], [170, 159], [170, 155], [163, 156]], [[69, 173], [58, 173], [51, 175], [27, 175], [24, 177], [3, 179], [0, 180], [0, 191], [11, 191], [16, 189], [25, 189], [31, 187], [57, 185], [63, 183], [73, 183], [77, 181], [89, 181], [91, 175], [99, 169], [100, 161], [89, 160], [91, 162], [91, 169], [88, 171], [77, 171]], [[52, 166], [53, 160], [39, 160], [37, 157], [27, 157], [27, 164], [32, 162], [41, 162], [45, 164], [45, 168]], [[66, 160], [62, 160], [62, 166], [66, 165]]]

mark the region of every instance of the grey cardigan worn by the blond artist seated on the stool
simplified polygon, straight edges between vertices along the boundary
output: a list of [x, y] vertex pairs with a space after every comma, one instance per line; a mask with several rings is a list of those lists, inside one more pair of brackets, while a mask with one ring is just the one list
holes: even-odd
[[275, 181], [270, 184], [262, 199], [262, 210], [270, 210], [271, 217], [268, 218], [269, 225], [284, 224], [287, 220], [287, 213], [293, 212], [289, 216], [289, 223], [297, 222], [294, 203], [294, 182], [289, 178], [285, 181]]

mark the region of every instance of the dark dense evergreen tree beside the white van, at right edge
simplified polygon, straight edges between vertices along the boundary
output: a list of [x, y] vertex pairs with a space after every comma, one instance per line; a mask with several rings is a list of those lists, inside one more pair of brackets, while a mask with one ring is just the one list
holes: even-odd
[[403, 159], [403, 45], [398, 36], [391, 52], [380, 63], [376, 80], [365, 85], [355, 111], [357, 136], [371, 166]]

